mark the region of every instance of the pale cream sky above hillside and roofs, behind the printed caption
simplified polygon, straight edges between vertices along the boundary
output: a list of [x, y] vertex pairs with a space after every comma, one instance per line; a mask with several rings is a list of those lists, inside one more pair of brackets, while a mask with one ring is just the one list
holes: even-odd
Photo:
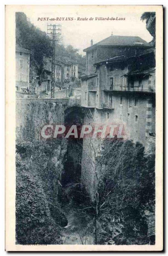
[[[122, 12], [121, 12], [122, 10]], [[23, 12], [27, 15], [31, 23], [42, 31], [47, 32], [48, 24], [61, 24], [61, 39], [66, 46], [71, 44], [74, 48], [79, 49], [79, 53], [85, 55], [84, 48], [90, 46], [91, 39], [93, 44], [105, 39], [108, 36], [139, 36], [147, 42], [152, 40], [152, 36], [146, 29], [145, 21], [140, 20], [143, 11], [138, 8], [114, 8], [114, 6], [76, 6], [76, 5], [57, 5], [46, 6], [46, 8], [24, 9]], [[70, 17], [71, 21], [45, 21], [38, 18], [57, 19]], [[115, 18], [117, 20], [95, 20], [96, 17]], [[77, 20], [77, 19], [88, 20]], [[93, 20], [89, 20], [93, 18]], [[119, 20], [125, 18], [125, 20]]]

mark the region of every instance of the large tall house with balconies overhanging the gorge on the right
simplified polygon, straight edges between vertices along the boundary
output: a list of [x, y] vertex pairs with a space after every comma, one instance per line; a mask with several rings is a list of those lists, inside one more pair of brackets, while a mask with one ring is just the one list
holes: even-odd
[[128, 139], [145, 144], [155, 133], [154, 49], [137, 36], [110, 36], [84, 51], [81, 105], [88, 119], [124, 124]]

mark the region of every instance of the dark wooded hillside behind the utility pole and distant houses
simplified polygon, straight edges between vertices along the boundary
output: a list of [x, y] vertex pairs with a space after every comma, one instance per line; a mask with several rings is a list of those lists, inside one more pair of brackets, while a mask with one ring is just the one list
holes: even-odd
[[[52, 44], [49, 36], [36, 28], [23, 12], [16, 12], [16, 45], [31, 51], [30, 81], [34, 75], [41, 75], [43, 71], [43, 55], [52, 56]], [[85, 67], [85, 57], [78, 54], [78, 49], [68, 45], [65, 47], [60, 41], [56, 42], [56, 61], [67, 63], [78, 62]]]

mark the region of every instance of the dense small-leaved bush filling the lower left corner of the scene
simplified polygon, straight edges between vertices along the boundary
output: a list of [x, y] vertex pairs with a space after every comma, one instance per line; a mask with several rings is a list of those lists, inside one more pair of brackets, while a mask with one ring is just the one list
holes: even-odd
[[16, 156], [17, 244], [60, 244], [60, 226], [51, 216], [41, 180], [27, 160]]

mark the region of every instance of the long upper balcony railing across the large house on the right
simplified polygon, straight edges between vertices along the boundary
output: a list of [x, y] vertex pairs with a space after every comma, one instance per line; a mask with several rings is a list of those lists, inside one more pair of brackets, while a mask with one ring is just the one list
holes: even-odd
[[[108, 89], [109, 88], [109, 89]], [[122, 91], [122, 92], [155, 92], [155, 88], [152, 86], [143, 86], [140, 84], [139, 86], [131, 86], [131, 85], [122, 85], [122, 84], [114, 84], [113, 86], [107, 86], [104, 91]]]

